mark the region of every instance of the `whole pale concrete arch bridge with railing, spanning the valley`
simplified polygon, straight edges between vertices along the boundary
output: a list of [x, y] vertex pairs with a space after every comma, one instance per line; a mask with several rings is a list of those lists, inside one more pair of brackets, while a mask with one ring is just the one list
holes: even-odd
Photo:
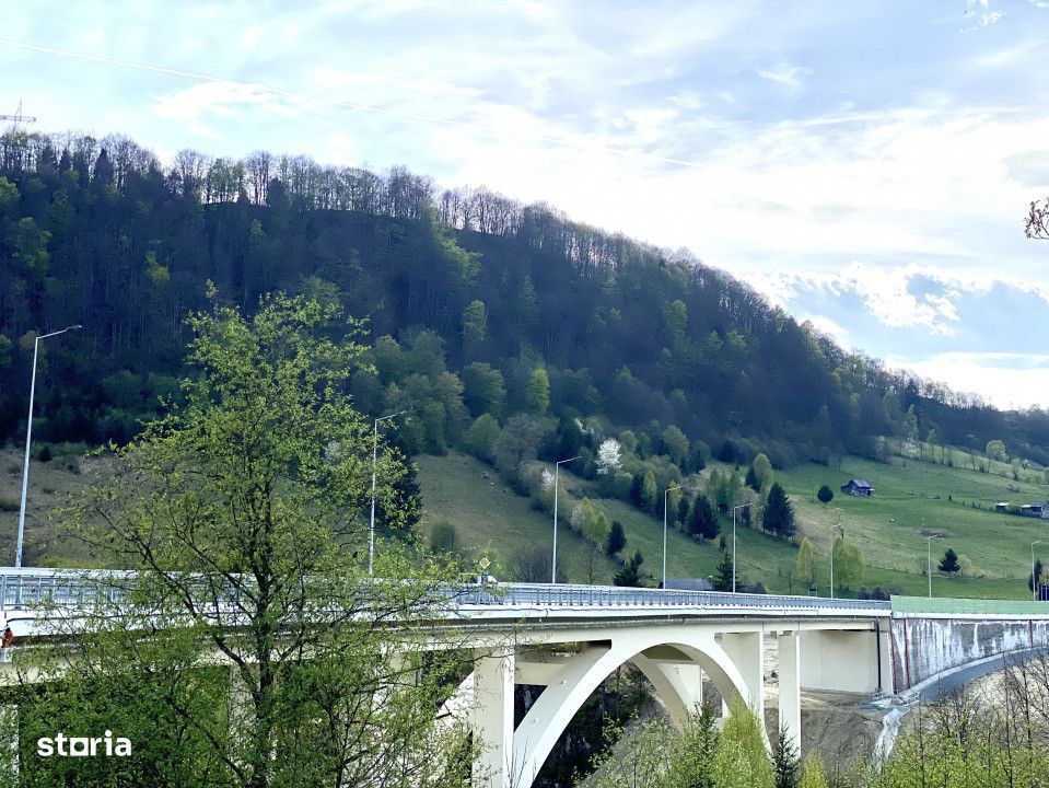
[[[83, 571], [0, 573], [0, 625], [40, 636], [55, 606], [75, 610], [100, 589]], [[724, 702], [765, 719], [766, 647], [778, 660], [779, 722], [801, 742], [803, 690], [905, 693], [951, 669], [1049, 647], [1049, 604], [896, 596], [831, 600], [566, 584], [455, 590], [447, 624], [474, 649], [474, 672], [441, 710], [483, 741], [478, 784], [527, 788], [572, 717], [617, 668], [632, 663], [680, 722]], [[45, 604], [46, 603], [46, 604]], [[462, 637], [465, 634], [466, 637]], [[543, 687], [514, 725], [514, 687]]]

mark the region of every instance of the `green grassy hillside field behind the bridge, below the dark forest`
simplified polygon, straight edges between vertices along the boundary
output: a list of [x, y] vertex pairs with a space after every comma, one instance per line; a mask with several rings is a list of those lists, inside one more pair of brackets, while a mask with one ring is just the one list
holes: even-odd
[[[876, 490], [874, 498], [836, 494], [827, 506], [816, 501], [819, 485], [828, 484], [837, 491], [854, 476], [871, 480]], [[609, 521], [622, 523], [627, 534], [623, 554], [640, 549], [645, 558], [644, 568], [658, 578], [662, 520], [622, 501], [601, 498], [593, 484], [570, 473], [563, 478], [570, 500], [560, 508], [563, 520], [558, 549], [560, 566], [569, 579], [586, 579], [583, 558], [586, 544], [567, 528], [568, 515], [583, 495], [590, 496]], [[982, 578], [947, 578], [934, 573], [933, 593], [941, 596], [1024, 599], [1030, 543], [1042, 538], [1044, 555], [1049, 557], [1049, 521], [993, 511], [999, 500], [1044, 499], [1049, 488], [1042, 485], [910, 460], [897, 459], [886, 465], [855, 457], [846, 457], [840, 467], [809, 464], [778, 472], [777, 479], [791, 496], [801, 532], [816, 543], [817, 549], [827, 553], [831, 531], [839, 522], [847, 537], [860, 544], [869, 565], [863, 581], [867, 588], [891, 586], [906, 593], [926, 593], [928, 581], [919, 566], [925, 559], [925, 533], [939, 535], [932, 543], [934, 561], [946, 547], [953, 547], [968, 555], [984, 575]], [[527, 498], [514, 495], [498, 474], [482, 463], [456, 453], [443, 457], [422, 456], [419, 480], [426, 523], [452, 522], [468, 548], [490, 545], [502, 559], [504, 573], [521, 552], [536, 546], [549, 549], [551, 517], [533, 509]], [[971, 501], [984, 508], [974, 509]], [[722, 520], [722, 533], [730, 544], [731, 530], [731, 520]], [[720, 559], [716, 544], [697, 542], [673, 529], [667, 544], [671, 577], [708, 577]], [[773, 592], [804, 592], [800, 583], [791, 579], [796, 557], [794, 545], [741, 526], [737, 557], [744, 579], [760, 580]], [[610, 561], [602, 561], [595, 579], [607, 582], [614, 570]], [[825, 586], [828, 568], [824, 566], [820, 573], [820, 583]], [[819, 591], [827, 593], [826, 588]]]

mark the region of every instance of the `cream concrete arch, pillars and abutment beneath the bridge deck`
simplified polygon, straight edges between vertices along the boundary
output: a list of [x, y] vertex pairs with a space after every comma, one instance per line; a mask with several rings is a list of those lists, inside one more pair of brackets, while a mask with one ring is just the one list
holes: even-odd
[[[704, 681], [721, 696], [723, 714], [739, 700], [764, 723], [766, 636], [774, 636], [779, 723], [800, 744], [802, 690], [891, 691], [883, 684], [891, 667], [887, 631], [881, 634], [871, 622], [835, 630], [735, 622], [555, 633], [544, 642], [478, 651], [474, 672], [444, 711], [467, 719], [481, 742], [476, 785], [528, 788], [586, 698], [623, 664], [645, 675], [678, 726], [702, 708]], [[545, 688], [515, 728], [516, 684]]]

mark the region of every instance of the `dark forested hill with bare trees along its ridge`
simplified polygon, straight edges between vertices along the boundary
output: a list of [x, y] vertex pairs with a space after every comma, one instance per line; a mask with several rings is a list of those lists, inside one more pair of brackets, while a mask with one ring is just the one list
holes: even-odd
[[126, 138], [21, 132], [0, 140], [0, 440], [24, 429], [33, 332], [71, 323], [83, 332], [46, 343], [34, 434], [126, 440], [174, 393], [208, 281], [245, 310], [308, 289], [368, 317], [378, 375], [354, 393], [413, 403], [430, 425], [416, 449], [459, 439], [464, 396], [473, 416], [544, 405], [545, 376], [553, 415], [676, 425], [739, 459], [872, 454], [877, 436], [933, 430], [1049, 463], [1049, 414], [889, 373], [721, 271], [546, 206], [399, 169], [190, 151], [165, 167]]

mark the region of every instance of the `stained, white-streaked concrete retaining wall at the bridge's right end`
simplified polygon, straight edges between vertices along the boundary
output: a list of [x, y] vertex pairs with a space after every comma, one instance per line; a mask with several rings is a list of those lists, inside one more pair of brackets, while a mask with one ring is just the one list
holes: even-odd
[[951, 668], [1018, 649], [1049, 646], [1049, 622], [894, 618], [893, 681], [902, 692]]

